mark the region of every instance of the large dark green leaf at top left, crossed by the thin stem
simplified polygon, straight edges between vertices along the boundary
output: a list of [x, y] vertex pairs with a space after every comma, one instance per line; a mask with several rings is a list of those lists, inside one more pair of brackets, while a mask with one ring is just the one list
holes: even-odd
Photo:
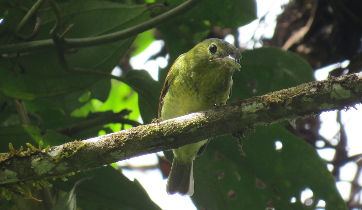
[[[116, 32], [148, 20], [150, 14], [146, 5], [126, 5], [109, 1], [73, 0], [58, 3], [58, 6], [63, 18], [59, 33], [63, 33], [68, 25], [74, 24], [66, 38], [94, 37]], [[45, 2], [37, 16], [41, 18], [42, 24], [35, 40], [49, 39], [49, 32], [55, 24], [55, 15], [49, 4]], [[17, 25], [18, 19], [18, 16], [10, 16], [5, 22], [9, 23], [7, 25]], [[29, 34], [33, 26], [34, 20], [31, 20], [21, 33]], [[75, 53], [66, 54], [66, 60], [73, 67], [111, 72], [134, 38], [81, 48]], [[9, 36], [0, 38], [0, 43], [14, 42], [17, 41], [12, 41]], [[89, 87], [102, 78], [94, 74], [65, 71], [59, 64], [55, 50], [0, 60], [0, 93], [14, 98], [32, 100], [76, 91]]]

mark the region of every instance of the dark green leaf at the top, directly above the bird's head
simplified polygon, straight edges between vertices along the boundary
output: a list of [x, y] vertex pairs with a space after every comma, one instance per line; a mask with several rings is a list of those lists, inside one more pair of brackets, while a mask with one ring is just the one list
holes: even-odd
[[[181, 2], [168, 1], [171, 7]], [[207, 0], [184, 15], [157, 27], [164, 36], [171, 61], [168, 67], [160, 72], [160, 81], [166, 77], [173, 61], [182, 53], [189, 51], [201, 39], [206, 38], [209, 31], [214, 30], [214, 26], [236, 29], [250, 23], [256, 17], [255, 0]]]

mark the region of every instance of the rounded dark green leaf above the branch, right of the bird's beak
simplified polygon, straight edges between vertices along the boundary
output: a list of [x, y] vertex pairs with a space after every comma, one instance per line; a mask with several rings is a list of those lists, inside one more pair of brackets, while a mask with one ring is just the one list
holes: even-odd
[[314, 80], [313, 69], [304, 59], [278, 47], [247, 50], [241, 56], [241, 71], [232, 76], [233, 98], [260, 96]]

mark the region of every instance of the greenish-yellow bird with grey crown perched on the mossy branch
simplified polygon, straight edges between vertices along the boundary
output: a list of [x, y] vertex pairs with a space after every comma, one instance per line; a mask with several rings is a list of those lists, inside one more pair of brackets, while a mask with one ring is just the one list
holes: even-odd
[[[232, 74], [240, 68], [240, 51], [217, 38], [198, 43], [180, 55], [170, 68], [161, 91], [159, 119], [226, 104], [231, 96]], [[193, 161], [200, 156], [210, 139], [173, 150], [174, 158], [166, 191], [191, 196], [194, 193]]]

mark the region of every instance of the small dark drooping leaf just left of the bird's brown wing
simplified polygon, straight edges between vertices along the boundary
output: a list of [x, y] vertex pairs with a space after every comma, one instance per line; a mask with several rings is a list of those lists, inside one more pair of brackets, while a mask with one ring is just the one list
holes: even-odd
[[124, 82], [138, 93], [138, 106], [144, 123], [157, 118], [162, 86], [145, 70], [127, 72]]

